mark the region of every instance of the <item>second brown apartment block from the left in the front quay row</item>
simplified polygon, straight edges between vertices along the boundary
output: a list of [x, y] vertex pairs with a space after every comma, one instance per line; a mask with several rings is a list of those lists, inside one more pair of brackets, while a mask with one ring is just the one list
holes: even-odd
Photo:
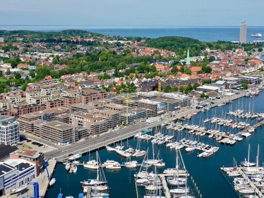
[[88, 128], [91, 134], [99, 134], [107, 131], [107, 123], [101, 116], [76, 112], [71, 114], [71, 124]]

